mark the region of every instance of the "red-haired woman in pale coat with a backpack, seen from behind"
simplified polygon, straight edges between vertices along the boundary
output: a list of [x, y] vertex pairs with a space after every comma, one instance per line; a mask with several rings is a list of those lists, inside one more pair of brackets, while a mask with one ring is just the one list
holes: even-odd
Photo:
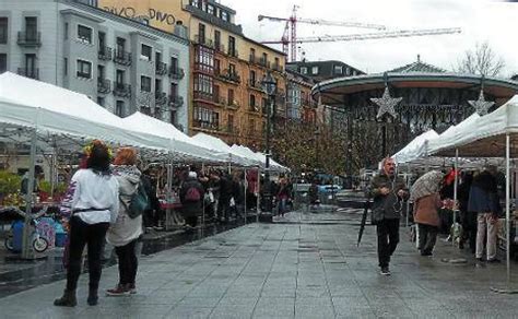
[[136, 166], [137, 151], [132, 147], [120, 147], [114, 160], [114, 175], [119, 182], [119, 214], [115, 225], [108, 229], [108, 244], [115, 247], [119, 262], [119, 282], [107, 290], [108, 296], [136, 294], [136, 276], [138, 259], [136, 253], [137, 241], [142, 235], [142, 214], [131, 217], [129, 206], [131, 198], [137, 192], [141, 173]]

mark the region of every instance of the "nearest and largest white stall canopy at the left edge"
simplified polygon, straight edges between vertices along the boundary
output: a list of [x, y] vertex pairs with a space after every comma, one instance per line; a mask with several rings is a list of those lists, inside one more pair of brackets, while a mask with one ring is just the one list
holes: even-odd
[[0, 125], [5, 137], [11, 128], [28, 128], [54, 141], [56, 137], [66, 135], [75, 142], [102, 139], [162, 151], [168, 143], [165, 139], [126, 129], [121, 118], [84, 94], [11, 72], [0, 74]]

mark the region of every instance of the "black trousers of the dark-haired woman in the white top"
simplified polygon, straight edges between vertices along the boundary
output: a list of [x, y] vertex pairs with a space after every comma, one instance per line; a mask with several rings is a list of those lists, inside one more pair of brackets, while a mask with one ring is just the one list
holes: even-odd
[[79, 216], [70, 218], [69, 262], [67, 290], [75, 291], [81, 274], [84, 246], [89, 249], [89, 274], [91, 290], [97, 290], [101, 280], [101, 253], [109, 223], [86, 224]]

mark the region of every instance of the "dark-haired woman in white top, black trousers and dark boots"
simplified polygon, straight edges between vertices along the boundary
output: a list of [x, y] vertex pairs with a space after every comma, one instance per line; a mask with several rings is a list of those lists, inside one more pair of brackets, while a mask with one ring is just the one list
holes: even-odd
[[60, 205], [64, 221], [69, 221], [69, 256], [67, 286], [55, 306], [74, 307], [75, 290], [81, 273], [84, 246], [89, 247], [90, 306], [97, 305], [101, 280], [101, 255], [109, 224], [115, 223], [119, 210], [119, 184], [109, 169], [110, 151], [99, 140], [84, 147], [86, 167], [79, 169], [70, 181]]

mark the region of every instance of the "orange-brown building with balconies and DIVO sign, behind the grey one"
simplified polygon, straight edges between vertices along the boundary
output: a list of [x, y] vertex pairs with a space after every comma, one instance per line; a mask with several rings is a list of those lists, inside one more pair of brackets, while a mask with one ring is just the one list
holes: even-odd
[[286, 116], [285, 56], [243, 33], [236, 12], [213, 0], [98, 0], [98, 8], [170, 32], [188, 29], [190, 46], [189, 133], [205, 132], [227, 143], [260, 150], [268, 97], [261, 80], [278, 81], [275, 114]]

